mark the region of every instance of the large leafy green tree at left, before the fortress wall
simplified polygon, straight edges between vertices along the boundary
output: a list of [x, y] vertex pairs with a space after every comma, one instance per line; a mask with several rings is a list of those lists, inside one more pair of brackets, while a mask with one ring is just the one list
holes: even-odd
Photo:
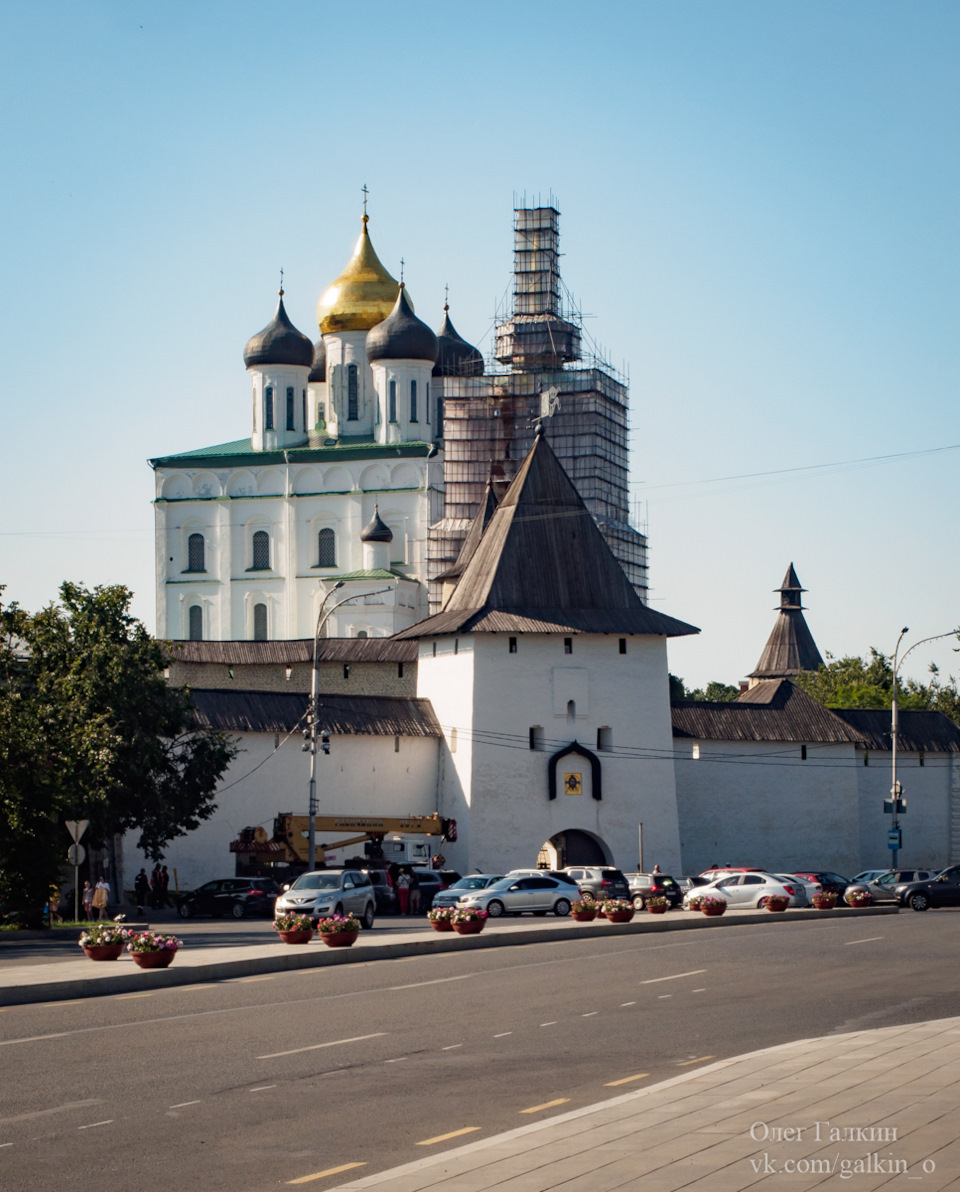
[[160, 859], [213, 813], [236, 756], [167, 685], [129, 589], [64, 583], [60, 596], [36, 614], [0, 606], [0, 899], [33, 918], [63, 862], [64, 820], [89, 820], [94, 846], [136, 828]]

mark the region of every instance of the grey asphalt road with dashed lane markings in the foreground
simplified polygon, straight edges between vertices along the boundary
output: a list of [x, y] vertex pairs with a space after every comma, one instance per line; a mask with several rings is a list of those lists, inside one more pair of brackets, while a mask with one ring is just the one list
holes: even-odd
[[264, 1192], [341, 1168], [309, 1181], [329, 1187], [713, 1058], [960, 1014], [959, 946], [960, 912], [773, 920], [10, 1007], [0, 1186]]

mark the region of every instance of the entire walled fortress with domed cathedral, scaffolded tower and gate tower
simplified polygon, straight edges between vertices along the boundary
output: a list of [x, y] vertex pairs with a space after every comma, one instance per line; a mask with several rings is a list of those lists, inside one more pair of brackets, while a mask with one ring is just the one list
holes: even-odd
[[[886, 861], [888, 737], [792, 684], [819, 658], [792, 567], [752, 685], [671, 708], [667, 639], [698, 631], [645, 603], [626, 385], [584, 352], [558, 260], [557, 210], [518, 209], [513, 309], [484, 360], [446, 306], [436, 333], [417, 317], [364, 215], [316, 343], [283, 291], [247, 342], [249, 436], [150, 461], [169, 678], [242, 746], [215, 817], [171, 845], [181, 884], [268, 863], [230, 843], [305, 813], [316, 633], [321, 812], [456, 819], [462, 873]], [[902, 863], [946, 864], [960, 731], [911, 716]]]

